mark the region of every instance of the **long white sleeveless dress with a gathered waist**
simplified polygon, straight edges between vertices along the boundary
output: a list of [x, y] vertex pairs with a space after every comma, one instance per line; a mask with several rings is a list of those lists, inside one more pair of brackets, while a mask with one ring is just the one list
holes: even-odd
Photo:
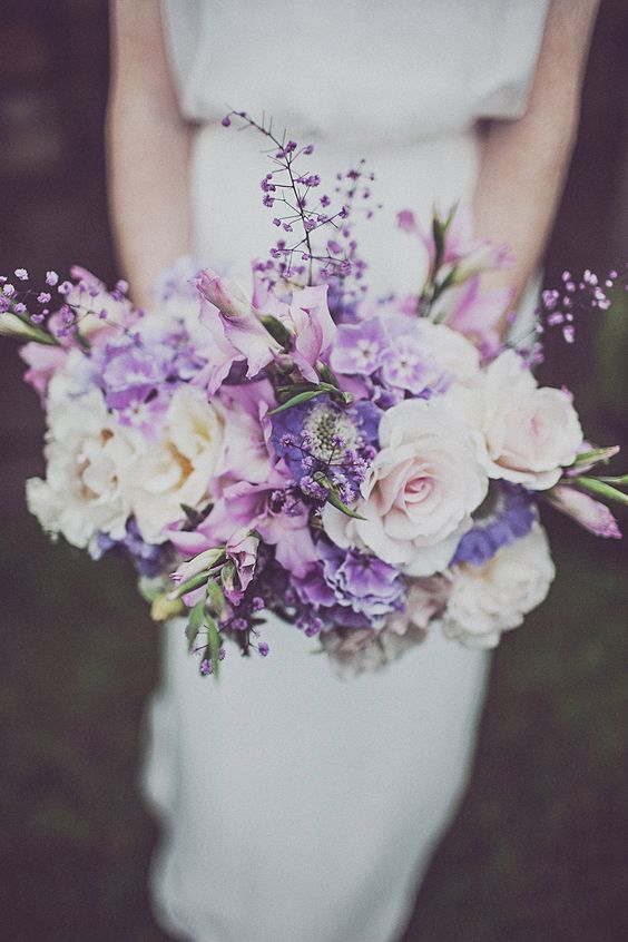
[[[367, 158], [384, 204], [359, 225], [369, 282], [415, 291], [424, 259], [394, 216], [471, 198], [475, 124], [523, 114], [548, 2], [164, 2], [180, 109], [198, 125], [197, 256], [247, 278], [276, 238], [265, 141], [219, 121], [265, 110], [314, 145], [332, 190]], [[164, 825], [157, 918], [194, 942], [391, 942], [464, 787], [489, 655], [434, 632], [382, 671], [340, 677], [294, 627], [274, 618], [264, 637], [265, 660], [230, 650], [213, 683], [183, 622], [165, 629], [144, 769]]]

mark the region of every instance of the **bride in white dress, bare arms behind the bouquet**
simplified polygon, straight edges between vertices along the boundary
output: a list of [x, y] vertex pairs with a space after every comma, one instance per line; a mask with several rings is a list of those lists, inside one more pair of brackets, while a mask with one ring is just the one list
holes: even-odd
[[[375, 292], [415, 291], [424, 273], [395, 213], [467, 200], [478, 234], [517, 256], [489, 286], [530, 305], [596, 8], [115, 0], [110, 196], [136, 302], [178, 256], [247, 278], [272, 243], [262, 145], [220, 125], [235, 107], [313, 144], [326, 180], [367, 158], [383, 209], [357, 236]], [[181, 630], [165, 631], [145, 768], [161, 924], [194, 942], [399, 939], [467, 782], [489, 655], [434, 635], [338, 678], [275, 619], [271, 656], [234, 657], [215, 685]]]

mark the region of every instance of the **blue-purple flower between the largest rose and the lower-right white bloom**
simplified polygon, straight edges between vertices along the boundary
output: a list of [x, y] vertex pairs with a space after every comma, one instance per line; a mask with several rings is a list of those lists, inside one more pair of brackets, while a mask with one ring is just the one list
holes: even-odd
[[492, 484], [474, 514], [473, 527], [460, 540], [451, 565], [482, 566], [500, 547], [526, 537], [536, 519], [533, 499], [524, 488], [508, 481]]

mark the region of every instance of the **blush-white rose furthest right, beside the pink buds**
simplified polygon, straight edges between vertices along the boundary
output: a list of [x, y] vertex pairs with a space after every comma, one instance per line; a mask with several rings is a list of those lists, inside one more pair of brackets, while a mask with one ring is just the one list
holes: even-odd
[[582, 429], [561, 390], [539, 387], [513, 350], [488, 367], [481, 391], [483, 464], [490, 478], [532, 490], [553, 487], [582, 445]]

